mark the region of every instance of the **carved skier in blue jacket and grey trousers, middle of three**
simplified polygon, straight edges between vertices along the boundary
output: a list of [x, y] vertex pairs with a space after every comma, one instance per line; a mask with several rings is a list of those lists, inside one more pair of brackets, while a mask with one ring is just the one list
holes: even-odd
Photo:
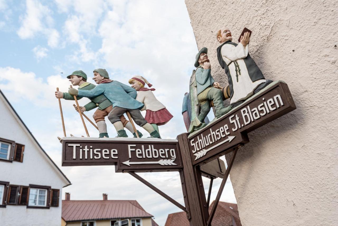
[[[106, 75], [106, 76], [102, 76]], [[113, 105], [113, 109], [108, 114], [109, 121], [114, 125], [118, 136], [128, 137], [123, 128], [120, 117], [127, 111], [129, 111], [131, 118], [135, 123], [143, 127], [149, 132], [150, 137], [159, 138], [159, 133], [143, 118], [140, 109], [144, 107], [144, 104], [135, 100], [136, 90], [115, 80], [108, 79], [108, 73], [105, 69], [94, 70], [94, 80], [98, 85], [91, 90], [82, 90], [70, 88], [68, 90], [70, 95], [79, 97], [95, 98], [100, 95], [104, 95]]]

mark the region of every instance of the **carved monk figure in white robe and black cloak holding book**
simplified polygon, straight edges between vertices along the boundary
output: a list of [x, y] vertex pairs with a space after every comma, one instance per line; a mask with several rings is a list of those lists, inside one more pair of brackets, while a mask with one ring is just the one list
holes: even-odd
[[228, 28], [222, 28], [217, 33], [217, 40], [222, 43], [217, 48], [217, 58], [228, 77], [230, 104], [235, 107], [272, 81], [265, 80], [262, 71], [249, 55], [249, 32], [241, 36], [238, 44], [232, 39]]

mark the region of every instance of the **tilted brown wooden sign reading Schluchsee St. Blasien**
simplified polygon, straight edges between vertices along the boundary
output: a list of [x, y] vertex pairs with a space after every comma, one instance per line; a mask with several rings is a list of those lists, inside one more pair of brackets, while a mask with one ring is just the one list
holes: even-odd
[[193, 165], [209, 162], [248, 142], [247, 132], [296, 109], [288, 85], [274, 82], [220, 119], [188, 137]]

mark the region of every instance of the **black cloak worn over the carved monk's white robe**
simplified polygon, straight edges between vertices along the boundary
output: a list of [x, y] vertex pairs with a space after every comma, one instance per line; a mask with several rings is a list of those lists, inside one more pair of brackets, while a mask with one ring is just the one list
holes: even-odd
[[[234, 45], [234, 46], [237, 46], [238, 44], [228, 40], [228, 41], [222, 43], [217, 48], [217, 58], [218, 58], [219, 65], [221, 65], [221, 67], [225, 71], [226, 76], [228, 77], [228, 83], [229, 83], [229, 88], [230, 88], [230, 99], [231, 99], [232, 96], [234, 95], [233, 81], [231, 79], [229, 67], [225, 63], [225, 61], [223, 60], [222, 55], [221, 55], [221, 48], [225, 44], [231, 44], [231, 45]], [[246, 58], [244, 58], [243, 60], [244, 60], [244, 63], [245, 63], [246, 68], [248, 70], [249, 77], [250, 77], [252, 82], [255, 82], [255, 81], [260, 80], [260, 79], [265, 79], [262, 71], [259, 69], [259, 67], [255, 63], [255, 61], [250, 57], [249, 53], [248, 53], [248, 56]], [[233, 63], [233, 61], [230, 64], [232, 64], [232, 63]], [[239, 79], [240, 79], [240, 77], [239, 77]]]

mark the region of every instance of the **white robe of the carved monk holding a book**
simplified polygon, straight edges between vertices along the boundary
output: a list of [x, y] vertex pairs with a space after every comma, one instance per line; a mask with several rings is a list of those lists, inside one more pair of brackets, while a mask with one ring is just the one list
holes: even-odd
[[238, 82], [237, 82], [235, 63], [232, 62], [228, 66], [231, 79], [233, 81], [233, 90], [234, 90], [234, 95], [230, 100], [230, 104], [247, 99], [254, 93], [254, 90], [257, 88], [257, 86], [266, 81], [265, 79], [260, 79], [255, 82], [251, 81], [245, 62], [243, 60], [243, 58], [246, 58], [248, 56], [249, 53], [248, 46], [249, 45], [246, 45], [244, 47], [242, 43], [238, 43], [236, 47], [232, 44], [225, 44], [221, 48], [221, 55], [224, 62], [226, 64], [229, 64], [231, 61], [236, 60], [239, 65], [239, 68], [241, 69], [241, 75], [239, 75], [238, 73]]

